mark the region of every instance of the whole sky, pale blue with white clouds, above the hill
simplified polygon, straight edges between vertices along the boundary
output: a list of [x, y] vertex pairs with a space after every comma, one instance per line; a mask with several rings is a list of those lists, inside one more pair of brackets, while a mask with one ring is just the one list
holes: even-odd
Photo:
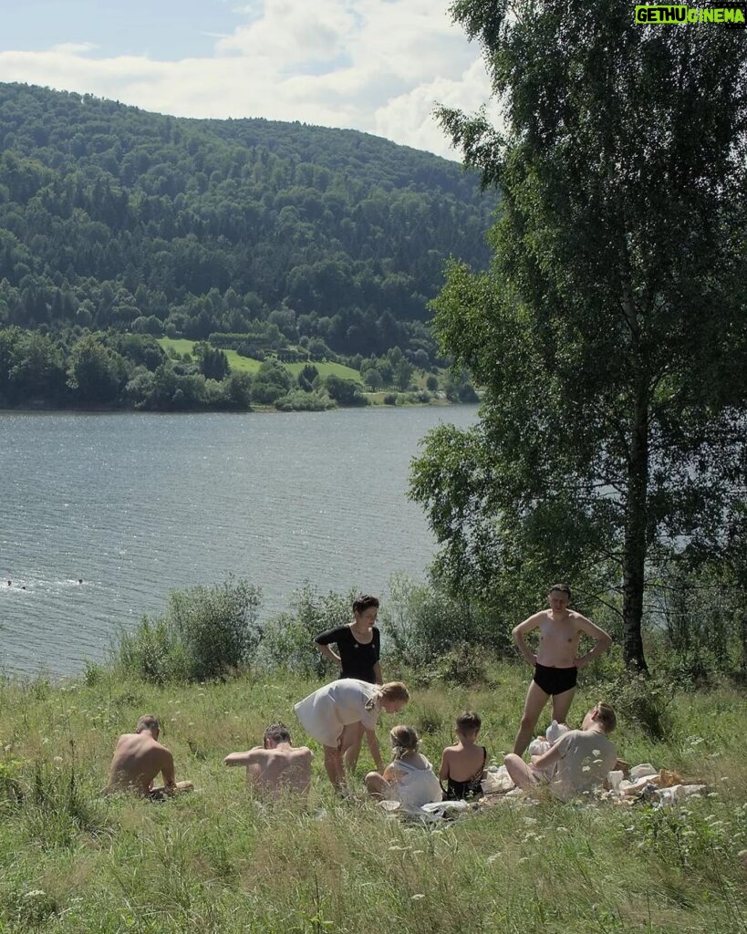
[[[176, 117], [301, 120], [458, 159], [436, 104], [490, 103], [449, 0], [0, 0], [0, 81]], [[5, 10], [2, 7], [6, 7]]]

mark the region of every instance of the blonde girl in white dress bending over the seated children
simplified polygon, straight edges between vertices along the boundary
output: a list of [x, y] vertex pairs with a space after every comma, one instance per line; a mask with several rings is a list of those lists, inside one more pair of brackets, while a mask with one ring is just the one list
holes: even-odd
[[319, 687], [294, 707], [303, 729], [324, 747], [324, 768], [334, 788], [342, 787], [345, 778], [340, 741], [343, 730], [359, 723], [366, 734], [376, 768], [382, 771], [384, 760], [376, 740], [379, 714], [396, 714], [410, 700], [402, 681], [371, 685], [357, 678], [341, 678]]

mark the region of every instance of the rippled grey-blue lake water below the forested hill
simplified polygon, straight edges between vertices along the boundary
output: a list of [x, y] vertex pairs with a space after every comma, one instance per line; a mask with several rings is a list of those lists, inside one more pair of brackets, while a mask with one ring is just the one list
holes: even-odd
[[405, 496], [418, 441], [476, 411], [0, 414], [0, 668], [78, 672], [170, 589], [228, 573], [264, 617], [306, 580], [386, 595], [433, 556]]

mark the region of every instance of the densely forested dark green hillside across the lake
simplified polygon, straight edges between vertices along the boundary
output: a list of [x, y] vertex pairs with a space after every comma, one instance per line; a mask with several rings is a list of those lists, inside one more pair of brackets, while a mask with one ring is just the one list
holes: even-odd
[[[108, 331], [427, 367], [444, 260], [486, 264], [494, 205], [457, 163], [368, 134], [0, 84], [0, 327], [41, 329], [65, 374]], [[37, 364], [7, 402], [49, 396]]]

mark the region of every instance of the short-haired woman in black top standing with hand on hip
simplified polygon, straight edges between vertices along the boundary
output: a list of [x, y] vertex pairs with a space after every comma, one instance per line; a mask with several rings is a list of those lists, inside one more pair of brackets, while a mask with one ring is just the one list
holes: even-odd
[[[340, 666], [341, 678], [358, 678], [359, 681], [367, 681], [372, 685], [384, 683], [379, 664], [381, 636], [375, 626], [378, 611], [379, 601], [369, 594], [364, 594], [353, 601], [352, 622], [315, 636], [314, 642], [321, 654]], [[339, 654], [331, 650], [332, 644], [337, 645]], [[362, 739], [363, 730], [360, 724], [354, 723], [345, 727], [341, 748], [345, 754], [347, 769], [355, 769]]]

